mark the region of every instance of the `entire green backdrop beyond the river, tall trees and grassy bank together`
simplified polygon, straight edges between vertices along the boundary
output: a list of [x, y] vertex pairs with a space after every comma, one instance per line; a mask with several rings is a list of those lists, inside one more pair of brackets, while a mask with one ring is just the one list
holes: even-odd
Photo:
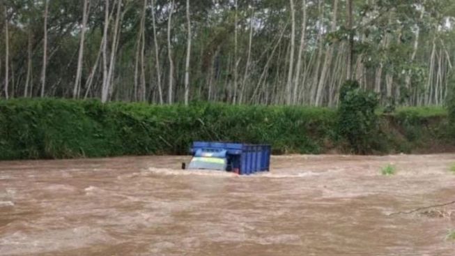
[[454, 28], [451, 0], [3, 0], [0, 159], [447, 151]]

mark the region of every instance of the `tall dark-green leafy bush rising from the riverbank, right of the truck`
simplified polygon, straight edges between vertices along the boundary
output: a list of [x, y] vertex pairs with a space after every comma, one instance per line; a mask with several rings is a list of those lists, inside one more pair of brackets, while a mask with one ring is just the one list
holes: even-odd
[[363, 91], [355, 81], [347, 81], [340, 90], [338, 110], [339, 135], [346, 139], [355, 153], [369, 153], [378, 136], [378, 97]]

